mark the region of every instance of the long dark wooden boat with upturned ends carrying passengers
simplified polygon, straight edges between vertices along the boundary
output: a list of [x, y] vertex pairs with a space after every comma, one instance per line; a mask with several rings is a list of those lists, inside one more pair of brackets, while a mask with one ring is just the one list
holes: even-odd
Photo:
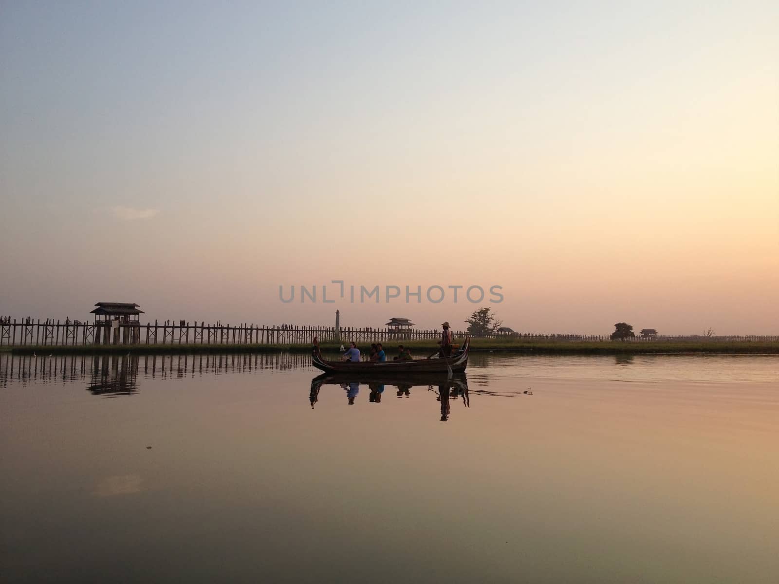
[[411, 361], [327, 361], [319, 350], [319, 341], [314, 338], [312, 365], [326, 373], [460, 373], [468, 366], [468, 350], [471, 338], [466, 337], [463, 347], [446, 358], [413, 359]]

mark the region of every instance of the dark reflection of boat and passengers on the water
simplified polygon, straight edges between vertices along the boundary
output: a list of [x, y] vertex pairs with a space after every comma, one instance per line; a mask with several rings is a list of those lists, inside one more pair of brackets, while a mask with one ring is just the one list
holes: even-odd
[[323, 373], [319, 377], [311, 380], [311, 391], [308, 395], [308, 402], [311, 409], [319, 402], [319, 392], [323, 385], [337, 385], [346, 394], [347, 405], [354, 405], [354, 401], [360, 393], [360, 386], [368, 389], [368, 402], [381, 403], [386, 395], [392, 395], [387, 392], [387, 386], [394, 389], [393, 393], [398, 399], [407, 399], [411, 397], [411, 390], [414, 395], [420, 390], [425, 395], [433, 394], [440, 405], [440, 420], [446, 422], [452, 412], [453, 402], [462, 401], [467, 408], [471, 407], [471, 397], [468, 392], [468, 380], [465, 373], [457, 373], [453, 377], [446, 377], [441, 373], [419, 373], [410, 375], [408, 373], [369, 375], [367, 373]]

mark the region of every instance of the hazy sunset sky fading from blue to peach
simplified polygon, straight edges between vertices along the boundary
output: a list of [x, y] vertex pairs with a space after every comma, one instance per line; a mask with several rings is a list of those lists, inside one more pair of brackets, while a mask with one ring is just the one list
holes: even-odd
[[0, 314], [779, 334], [777, 30], [775, 2], [0, 0]]

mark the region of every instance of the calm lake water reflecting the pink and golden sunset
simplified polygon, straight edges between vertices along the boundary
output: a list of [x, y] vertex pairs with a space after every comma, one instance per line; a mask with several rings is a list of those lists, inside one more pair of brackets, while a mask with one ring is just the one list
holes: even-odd
[[0, 577], [779, 582], [777, 357], [317, 373], [0, 355]]

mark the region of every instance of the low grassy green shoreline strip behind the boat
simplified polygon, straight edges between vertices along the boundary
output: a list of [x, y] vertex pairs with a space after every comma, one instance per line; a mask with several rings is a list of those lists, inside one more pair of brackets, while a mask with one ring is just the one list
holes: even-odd
[[[400, 344], [398, 342], [385, 343], [386, 349], [393, 349]], [[411, 349], [414, 356], [426, 357], [437, 348], [435, 342], [410, 341], [402, 343]], [[337, 353], [340, 351], [340, 342], [323, 342], [323, 352]], [[347, 342], [344, 342], [344, 346]], [[370, 345], [364, 343], [358, 345], [358, 349], [365, 352]], [[292, 352], [307, 353], [312, 345], [305, 344], [214, 344], [214, 345], [16, 345], [3, 347], [2, 352], [10, 352], [12, 355], [171, 355], [171, 354], [230, 354], [230, 353], [272, 353]], [[779, 342], [753, 342], [753, 341], [703, 341], [703, 342], [576, 342], [576, 341], [549, 341], [549, 342], [512, 342], [495, 341], [494, 339], [472, 339], [472, 352], [513, 352], [525, 354], [548, 355], [690, 355], [690, 354], [720, 354], [720, 355], [779, 355]]]

